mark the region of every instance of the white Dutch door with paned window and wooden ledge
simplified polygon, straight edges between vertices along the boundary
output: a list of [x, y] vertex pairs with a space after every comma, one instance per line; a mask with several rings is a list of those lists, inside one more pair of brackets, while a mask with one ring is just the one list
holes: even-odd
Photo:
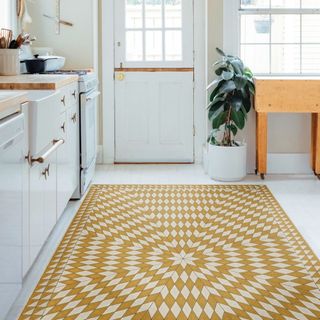
[[117, 0], [116, 162], [193, 162], [193, 0]]

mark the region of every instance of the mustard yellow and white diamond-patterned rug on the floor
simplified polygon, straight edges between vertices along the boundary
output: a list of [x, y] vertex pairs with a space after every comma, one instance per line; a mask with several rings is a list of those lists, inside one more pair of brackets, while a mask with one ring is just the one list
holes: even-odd
[[264, 186], [93, 186], [20, 319], [320, 319], [320, 262]]

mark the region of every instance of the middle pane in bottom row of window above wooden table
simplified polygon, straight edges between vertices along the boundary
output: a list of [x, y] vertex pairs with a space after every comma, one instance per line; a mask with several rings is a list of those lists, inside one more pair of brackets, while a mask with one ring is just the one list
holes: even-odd
[[271, 46], [271, 73], [299, 73], [300, 46], [275, 44]]

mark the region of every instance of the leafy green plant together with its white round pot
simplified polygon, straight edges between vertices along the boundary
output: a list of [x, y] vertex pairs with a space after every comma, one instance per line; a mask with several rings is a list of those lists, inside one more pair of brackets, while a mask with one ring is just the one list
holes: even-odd
[[226, 55], [214, 64], [217, 79], [208, 106], [212, 131], [208, 137], [208, 171], [214, 180], [239, 181], [247, 173], [247, 145], [236, 140], [245, 127], [255, 94], [253, 74], [240, 58]]

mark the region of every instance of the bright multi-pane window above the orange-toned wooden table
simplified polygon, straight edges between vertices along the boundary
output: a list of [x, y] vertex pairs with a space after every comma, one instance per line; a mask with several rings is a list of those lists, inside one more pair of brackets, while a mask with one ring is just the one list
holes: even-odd
[[240, 0], [240, 54], [256, 74], [320, 74], [320, 0]]

